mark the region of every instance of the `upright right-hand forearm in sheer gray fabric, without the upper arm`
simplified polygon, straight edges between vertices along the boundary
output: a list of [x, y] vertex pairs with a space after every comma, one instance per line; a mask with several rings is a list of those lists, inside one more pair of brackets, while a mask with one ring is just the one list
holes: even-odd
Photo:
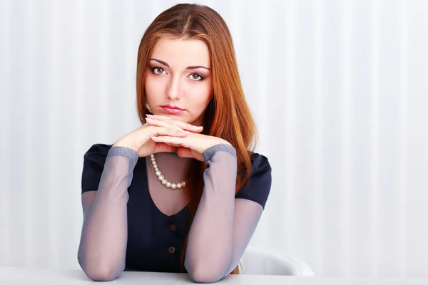
[[217, 281], [232, 266], [236, 156], [227, 150], [210, 157], [203, 195], [190, 227], [185, 267], [196, 281]]

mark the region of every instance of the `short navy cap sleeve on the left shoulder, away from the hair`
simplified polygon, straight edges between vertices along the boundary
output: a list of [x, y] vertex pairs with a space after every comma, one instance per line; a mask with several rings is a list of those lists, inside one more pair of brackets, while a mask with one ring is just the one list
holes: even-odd
[[83, 155], [83, 171], [82, 171], [82, 193], [98, 189], [98, 184], [103, 173], [104, 163], [108, 155], [108, 150], [112, 145], [95, 144]]

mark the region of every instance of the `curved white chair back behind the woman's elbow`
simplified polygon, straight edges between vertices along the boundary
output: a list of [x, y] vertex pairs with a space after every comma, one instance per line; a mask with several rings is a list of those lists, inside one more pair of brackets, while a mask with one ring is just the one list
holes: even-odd
[[248, 247], [240, 261], [241, 274], [314, 276], [305, 261], [268, 249]]

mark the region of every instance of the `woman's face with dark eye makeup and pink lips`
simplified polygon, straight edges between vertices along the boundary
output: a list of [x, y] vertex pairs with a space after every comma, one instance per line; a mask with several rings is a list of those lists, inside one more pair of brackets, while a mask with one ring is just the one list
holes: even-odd
[[146, 71], [146, 100], [154, 115], [203, 124], [212, 98], [210, 52], [205, 42], [163, 37]]

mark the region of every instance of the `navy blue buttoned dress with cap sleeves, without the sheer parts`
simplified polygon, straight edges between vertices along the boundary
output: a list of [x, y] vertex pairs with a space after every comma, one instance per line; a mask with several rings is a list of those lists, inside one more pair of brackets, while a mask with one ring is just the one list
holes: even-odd
[[[96, 144], [84, 155], [82, 193], [98, 190], [111, 147]], [[271, 167], [267, 158], [258, 153], [253, 153], [251, 162], [251, 179], [235, 198], [250, 199], [264, 208], [270, 192]], [[156, 207], [148, 190], [146, 157], [138, 157], [128, 195], [125, 270], [180, 272], [180, 253], [190, 229], [188, 207], [172, 216]]]

